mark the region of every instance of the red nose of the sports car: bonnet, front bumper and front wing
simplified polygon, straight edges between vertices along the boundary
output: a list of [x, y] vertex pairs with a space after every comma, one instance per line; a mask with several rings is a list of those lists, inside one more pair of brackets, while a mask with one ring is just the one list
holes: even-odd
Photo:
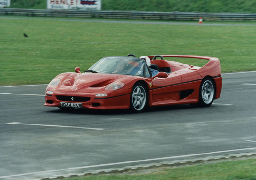
[[[67, 79], [69, 81], [70, 77], [73, 77], [75, 82], [72, 86], [67, 86], [66, 81]], [[72, 72], [60, 74], [56, 78], [64, 80], [60, 81], [55, 87], [47, 87], [46, 91], [52, 91], [53, 94], [46, 93], [45, 106], [60, 106], [60, 102], [63, 101], [58, 100], [57, 95], [77, 96], [90, 98], [89, 101], [82, 102], [83, 108], [88, 109], [128, 109], [130, 107], [130, 93], [133, 84], [136, 81], [144, 80], [144, 78], [136, 76], [94, 73], [78, 74]], [[122, 91], [106, 91], [105, 87], [116, 80], [118, 82], [125, 82]], [[151, 80], [149, 79], [149, 81]], [[107, 96], [95, 97], [96, 94], [107, 94]], [[54, 103], [47, 103], [49, 100]], [[93, 106], [93, 103], [100, 103], [100, 106]]]

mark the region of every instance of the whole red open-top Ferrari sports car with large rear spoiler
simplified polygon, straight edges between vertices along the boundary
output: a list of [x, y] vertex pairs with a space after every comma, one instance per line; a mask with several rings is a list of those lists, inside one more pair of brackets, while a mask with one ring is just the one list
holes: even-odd
[[[208, 60], [203, 67], [164, 58]], [[153, 74], [153, 75], [152, 75]], [[190, 104], [209, 107], [220, 97], [220, 61], [215, 57], [156, 55], [104, 57], [84, 73], [56, 76], [46, 88], [45, 106], [61, 109], [131, 109]]]

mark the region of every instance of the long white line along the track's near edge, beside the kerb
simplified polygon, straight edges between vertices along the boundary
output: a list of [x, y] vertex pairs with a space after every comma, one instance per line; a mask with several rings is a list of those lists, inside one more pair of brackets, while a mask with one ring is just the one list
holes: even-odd
[[180, 155], [180, 156], [170, 156], [170, 157], [154, 158], [154, 159], [144, 159], [144, 160], [137, 160], [137, 161], [125, 161], [125, 162], [116, 162], [116, 163], [109, 163], [109, 164], [98, 164], [98, 165], [82, 166], [82, 167], [58, 169], [58, 170], [39, 171], [39, 172], [23, 173], [23, 174], [16, 174], [16, 175], [10, 175], [10, 176], [0, 176], [0, 178], [8, 178], [8, 177], [15, 177], [15, 176], [25, 176], [25, 175], [32, 175], [32, 174], [37, 174], [37, 173], [41, 174], [41, 173], [57, 172], [57, 171], [64, 171], [64, 170], [95, 168], [95, 167], [101, 167], [101, 166], [112, 166], [112, 165], [118, 165], [118, 164], [129, 164], [129, 163], [135, 163], [135, 162], [145, 162], [145, 161], [165, 160], [165, 159], [183, 158], [183, 157], [200, 156], [200, 155], [208, 155], [208, 154], [228, 153], [228, 152], [234, 152], [234, 151], [244, 151], [244, 150], [254, 150], [254, 149], [256, 149], [256, 147], [245, 148], [245, 149], [233, 149], [233, 150], [226, 150], [226, 151], [215, 151], [215, 152], [209, 152], [209, 153], [199, 153], [199, 154], [188, 154], [188, 155]]

